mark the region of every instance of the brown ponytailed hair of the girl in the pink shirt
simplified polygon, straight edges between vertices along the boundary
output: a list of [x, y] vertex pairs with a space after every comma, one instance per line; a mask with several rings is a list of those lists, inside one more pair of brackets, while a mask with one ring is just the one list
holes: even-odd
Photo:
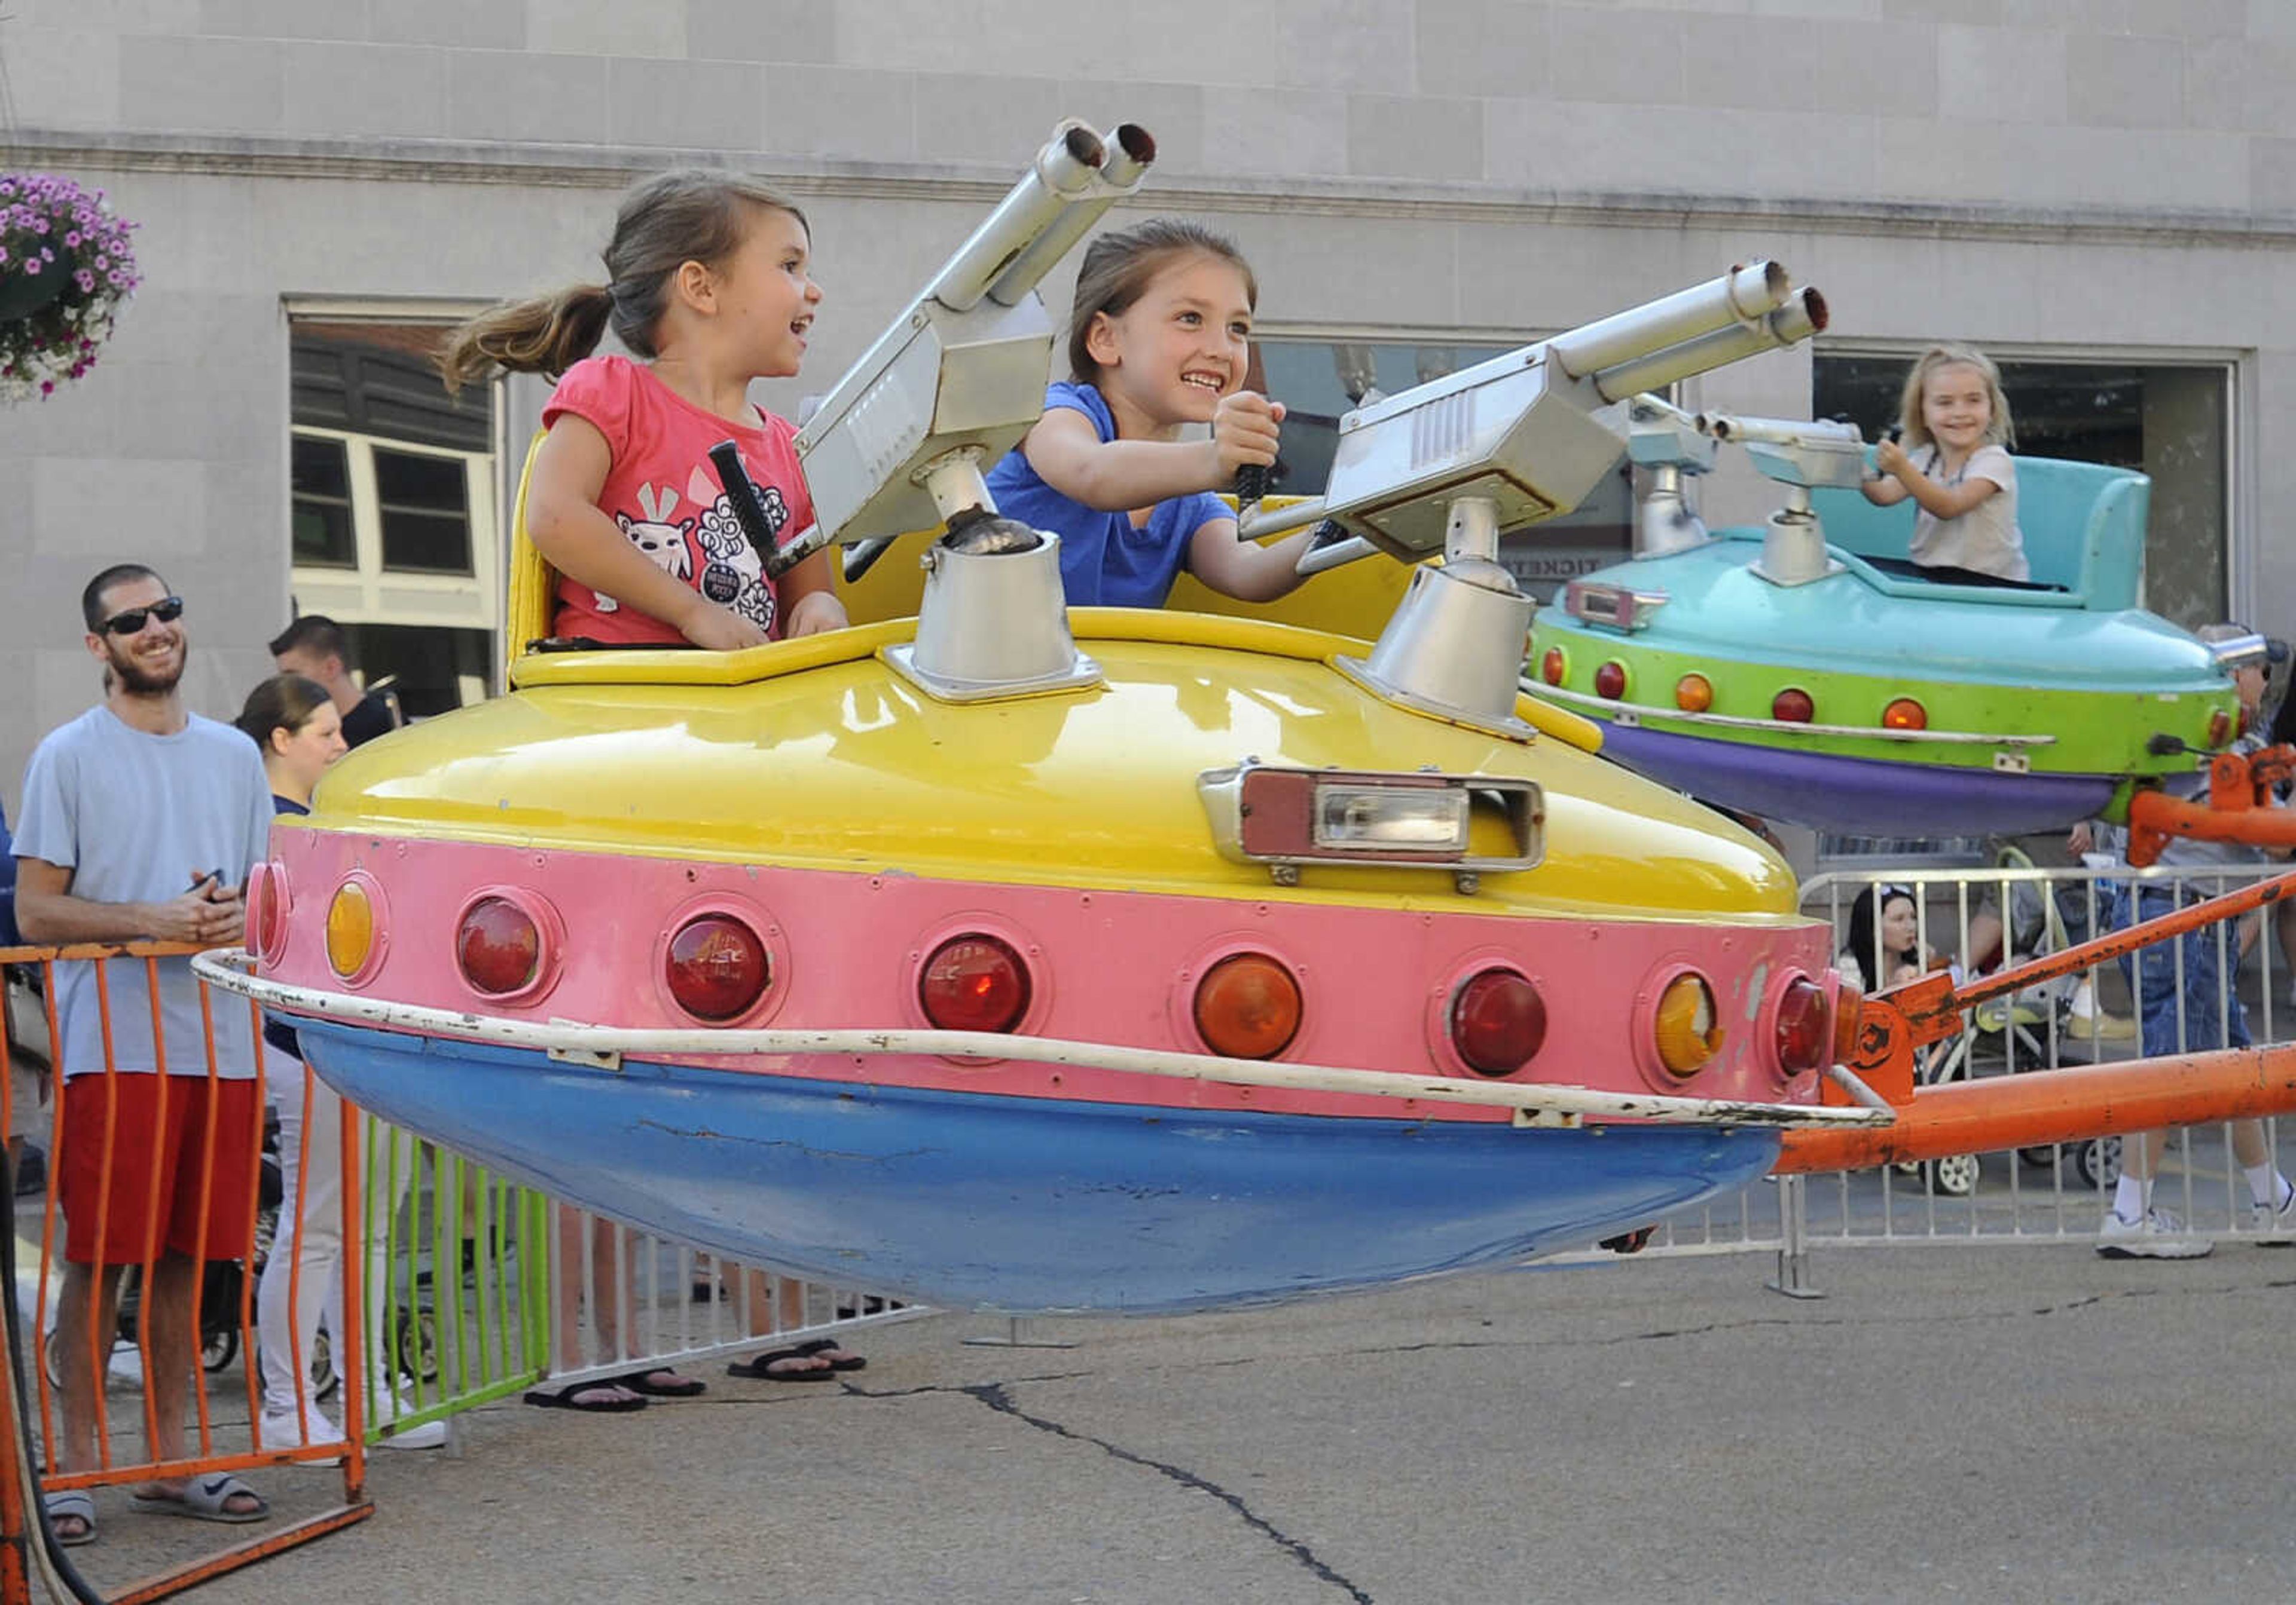
[[636, 184], [622, 195], [613, 239], [599, 253], [606, 282], [503, 301], [461, 324], [439, 347], [445, 388], [491, 379], [496, 370], [556, 379], [590, 356], [608, 326], [638, 356], [657, 356], [654, 326], [668, 308], [670, 276], [687, 262], [721, 266], [748, 237], [755, 207], [788, 211], [810, 234], [794, 202], [737, 172], [673, 168]]

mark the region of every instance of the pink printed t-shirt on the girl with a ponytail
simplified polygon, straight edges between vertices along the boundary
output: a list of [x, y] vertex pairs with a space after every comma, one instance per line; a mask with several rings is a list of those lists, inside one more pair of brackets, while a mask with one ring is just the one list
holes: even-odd
[[[638, 551], [712, 602], [781, 634], [774, 581], [742, 535], [732, 503], [719, 484], [709, 448], [735, 441], [742, 466], [758, 484], [774, 544], [813, 524], [813, 496], [797, 466], [797, 429], [760, 413], [765, 427], [737, 425], [670, 390], [645, 363], [627, 356], [588, 356], [567, 370], [542, 409], [542, 427], [574, 413], [606, 436], [613, 466], [597, 494], [599, 510], [622, 526]], [[684, 641], [659, 618], [627, 608], [588, 586], [558, 579], [551, 634], [592, 641]]]

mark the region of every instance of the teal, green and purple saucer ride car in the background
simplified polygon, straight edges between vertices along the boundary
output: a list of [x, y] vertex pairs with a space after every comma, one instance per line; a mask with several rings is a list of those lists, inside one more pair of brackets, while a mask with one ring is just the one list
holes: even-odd
[[[1706, 535], [1685, 512], [1715, 441], [1789, 487], [1768, 528]], [[1906, 556], [1910, 501], [1855, 489], [1853, 425], [1637, 397], [1630, 452], [1655, 471], [1642, 556], [1538, 615], [1527, 675], [1630, 769], [1823, 831], [2016, 836], [2119, 817], [2236, 732], [2229, 666], [2264, 643], [2204, 645], [2138, 606], [2140, 473], [2018, 457], [2032, 581], [1940, 583]]]

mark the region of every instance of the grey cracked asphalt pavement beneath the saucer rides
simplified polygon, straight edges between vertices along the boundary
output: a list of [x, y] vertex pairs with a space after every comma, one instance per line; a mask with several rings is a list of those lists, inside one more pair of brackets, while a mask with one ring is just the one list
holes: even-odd
[[[2296, 1594], [2296, 1249], [1756, 1254], [1185, 1320], [937, 1316], [833, 1385], [517, 1403], [195, 1598], [2266, 1600]], [[257, 1476], [282, 1513], [312, 1470]], [[246, 1529], [101, 1495], [126, 1580]]]

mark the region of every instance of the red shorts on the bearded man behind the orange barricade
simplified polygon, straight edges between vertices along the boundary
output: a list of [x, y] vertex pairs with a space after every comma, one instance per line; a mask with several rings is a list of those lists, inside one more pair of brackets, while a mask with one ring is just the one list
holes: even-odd
[[[161, 1081], [168, 1084], [165, 1125]], [[73, 1265], [142, 1265], [156, 1258], [154, 1245], [186, 1258], [246, 1258], [255, 1219], [259, 1091], [262, 1081], [253, 1077], [69, 1077], [55, 1155], [67, 1224], [64, 1258]], [[106, 1132], [113, 1134], [110, 1143], [103, 1141]]]

